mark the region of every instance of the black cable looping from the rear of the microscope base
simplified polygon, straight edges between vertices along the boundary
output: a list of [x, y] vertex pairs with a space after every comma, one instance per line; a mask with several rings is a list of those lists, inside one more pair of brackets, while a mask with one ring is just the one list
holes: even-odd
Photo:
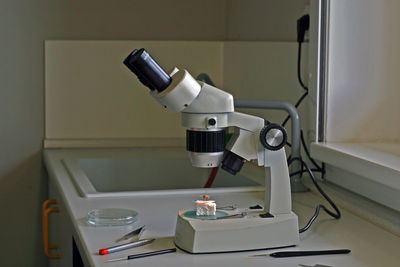
[[293, 163], [294, 161], [300, 161], [301, 164], [306, 168], [306, 171], [308, 172], [308, 174], [310, 175], [311, 181], [313, 182], [313, 184], [315, 185], [315, 187], [317, 188], [317, 190], [319, 191], [319, 193], [328, 201], [328, 203], [331, 205], [331, 207], [335, 210], [336, 213], [330, 211], [328, 208], [326, 208], [324, 205], [319, 204], [316, 208], [315, 208], [315, 212], [314, 215], [311, 217], [311, 219], [308, 221], [308, 223], [306, 224], [306, 226], [304, 226], [303, 228], [299, 229], [299, 233], [303, 233], [305, 231], [307, 231], [310, 226], [313, 224], [313, 222], [315, 221], [315, 219], [318, 217], [319, 215], [319, 211], [320, 209], [323, 209], [326, 213], [328, 213], [330, 216], [332, 216], [335, 219], [340, 219], [341, 217], [341, 213], [340, 210], [336, 207], [335, 203], [329, 198], [329, 196], [322, 190], [322, 188], [318, 185], [317, 180], [315, 179], [315, 176], [313, 174], [313, 172], [311, 171], [311, 169], [307, 166], [307, 164], [299, 157], [296, 158], [291, 158], [289, 161], [289, 165], [291, 163]]

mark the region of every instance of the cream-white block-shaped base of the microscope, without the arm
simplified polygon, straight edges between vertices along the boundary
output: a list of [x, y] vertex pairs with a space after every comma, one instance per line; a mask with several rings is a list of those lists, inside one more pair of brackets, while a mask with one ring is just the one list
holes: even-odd
[[175, 244], [190, 253], [214, 253], [294, 246], [299, 243], [297, 215], [293, 212], [261, 218], [250, 212], [244, 218], [202, 220], [178, 213]]

